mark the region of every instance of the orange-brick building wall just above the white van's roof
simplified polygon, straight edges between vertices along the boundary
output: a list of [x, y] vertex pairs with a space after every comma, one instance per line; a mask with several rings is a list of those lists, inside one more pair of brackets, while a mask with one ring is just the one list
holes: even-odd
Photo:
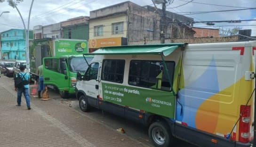
[[194, 37], [219, 37], [219, 29], [192, 28], [196, 33]]

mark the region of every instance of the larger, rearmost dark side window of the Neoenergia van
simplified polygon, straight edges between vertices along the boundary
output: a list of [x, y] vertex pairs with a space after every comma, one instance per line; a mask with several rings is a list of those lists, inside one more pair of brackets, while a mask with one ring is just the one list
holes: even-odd
[[173, 81], [175, 62], [166, 61], [168, 73], [164, 70], [162, 61], [131, 60], [129, 67], [128, 84], [145, 88], [170, 90], [171, 84], [168, 75]]

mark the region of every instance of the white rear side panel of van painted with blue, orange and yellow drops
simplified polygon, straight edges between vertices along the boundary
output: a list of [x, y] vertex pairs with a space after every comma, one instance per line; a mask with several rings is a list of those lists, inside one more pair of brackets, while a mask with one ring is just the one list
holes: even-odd
[[[185, 49], [183, 78], [176, 120], [188, 126], [225, 137], [239, 118], [252, 92], [252, 81], [245, 81], [250, 70], [251, 50], [232, 50], [244, 43], [190, 44]], [[233, 130], [238, 140], [238, 125]]]

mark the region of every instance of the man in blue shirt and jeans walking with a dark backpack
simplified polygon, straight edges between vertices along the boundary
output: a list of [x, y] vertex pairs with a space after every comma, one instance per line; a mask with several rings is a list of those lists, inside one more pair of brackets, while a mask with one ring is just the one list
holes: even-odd
[[21, 105], [21, 96], [22, 96], [22, 93], [23, 93], [24, 97], [26, 99], [27, 108], [28, 108], [28, 110], [30, 110], [31, 109], [30, 108], [30, 96], [29, 96], [30, 74], [24, 72], [24, 70], [25, 70], [24, 66], [20, 66], [20, 70], [21, 70], [21, 72], [16, 74], [16, 78], [18, 76], [20, 76], [22, 78], [23, 87], [22, 88], [16, 88], [15, 87], [15, 91], [17, 91], [17, 104], [16, 104], [16, 106]]

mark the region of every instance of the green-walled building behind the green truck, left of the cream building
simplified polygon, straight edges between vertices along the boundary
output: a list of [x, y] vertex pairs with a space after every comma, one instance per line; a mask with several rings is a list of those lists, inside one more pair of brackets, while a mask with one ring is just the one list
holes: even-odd
[[61, 22], [61, 37], [89, 40], [89, 17], [80, 16]]

